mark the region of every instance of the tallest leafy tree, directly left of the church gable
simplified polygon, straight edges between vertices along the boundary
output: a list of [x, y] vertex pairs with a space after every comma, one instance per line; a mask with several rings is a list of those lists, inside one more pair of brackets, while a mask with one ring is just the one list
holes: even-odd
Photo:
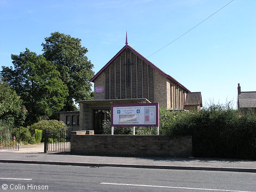
[[93, 64], [85, 56], [87, 49], [81, 39], [54, 32], [42, 43], [44, 57], [55, 63], [60, 78], [68, 86], [68, 97], [63, 110], [75, 110], [74, 100], [92, 99], [91, 79]]

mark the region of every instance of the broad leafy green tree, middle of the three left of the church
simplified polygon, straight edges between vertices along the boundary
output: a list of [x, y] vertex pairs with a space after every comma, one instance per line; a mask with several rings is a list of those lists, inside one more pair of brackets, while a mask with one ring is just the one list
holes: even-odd
[[28, 49], [11, 58], [14, 69], [2, 67], [2, 76], [24, 101], [26, 124], [55, 118], [55, 112], [65, 106], [68, 90], [54, 63]]

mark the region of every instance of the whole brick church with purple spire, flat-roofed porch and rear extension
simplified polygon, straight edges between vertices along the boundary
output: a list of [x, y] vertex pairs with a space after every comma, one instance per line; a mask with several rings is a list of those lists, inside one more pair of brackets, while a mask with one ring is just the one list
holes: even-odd
[[[102, 133], [102, 122], [114, 104], [158, 102], [170, 110], [199, 110], [201, 92], [191, 93], [176, 79], [167, 75], [134, 50], [124, 47], [92, 78], [94, 100], [79, 103], [79, 129]], [[65, 121], [65, 114], [60, 112]]]

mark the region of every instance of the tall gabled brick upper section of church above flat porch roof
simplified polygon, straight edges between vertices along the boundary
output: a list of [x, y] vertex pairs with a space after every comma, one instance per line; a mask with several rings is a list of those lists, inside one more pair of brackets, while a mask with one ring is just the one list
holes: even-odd
[[184, 109], [190, 91], [127, 43], [92, 79], [94, 100], [146, 98], [167, 109]]

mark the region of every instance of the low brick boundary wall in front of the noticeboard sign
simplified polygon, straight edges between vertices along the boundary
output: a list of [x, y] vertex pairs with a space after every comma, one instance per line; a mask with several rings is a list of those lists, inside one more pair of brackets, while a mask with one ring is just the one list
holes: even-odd
[[192, 137], [71, 135], [71, 153], [113, 156], [192, 156]]

